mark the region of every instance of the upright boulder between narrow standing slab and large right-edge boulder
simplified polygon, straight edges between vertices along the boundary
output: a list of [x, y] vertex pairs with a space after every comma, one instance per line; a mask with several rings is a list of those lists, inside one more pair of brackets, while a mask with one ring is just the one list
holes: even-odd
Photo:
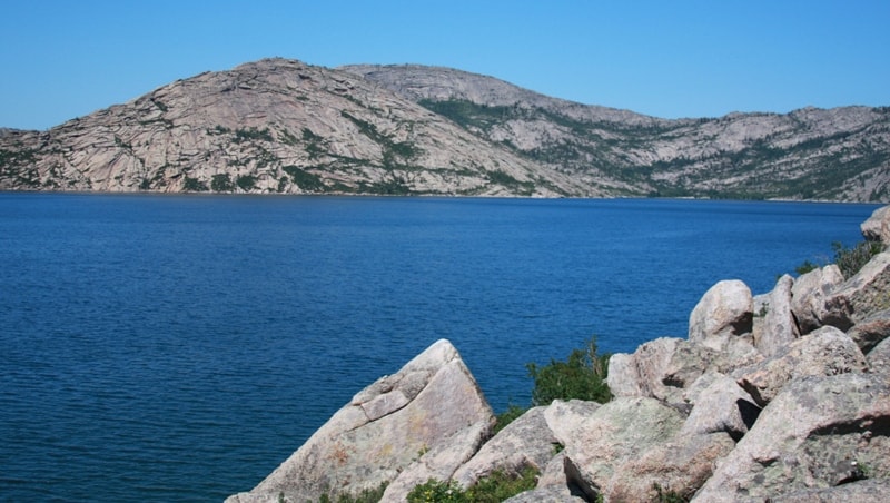
[[[813, 269], [794, 280], [794, 286], [791, 287], [791, 312], [794, 313], [801, 335], [821, 327], [824, 319], [832, 317], [827, 310], [825, 299], [842, 283], [843, 274], [834, 264]], [[764, 314], [765, 312], [764, 309]]]

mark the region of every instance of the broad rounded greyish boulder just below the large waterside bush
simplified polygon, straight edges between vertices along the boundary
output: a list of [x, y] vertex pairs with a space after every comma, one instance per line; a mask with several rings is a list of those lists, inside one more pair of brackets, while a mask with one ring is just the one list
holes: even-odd
[[620, 397], [603, 404], [565, 444], [565, 473], [591, 501], [603, 493], [615, 470], [673, 438], [683, 416], [654, 398]]

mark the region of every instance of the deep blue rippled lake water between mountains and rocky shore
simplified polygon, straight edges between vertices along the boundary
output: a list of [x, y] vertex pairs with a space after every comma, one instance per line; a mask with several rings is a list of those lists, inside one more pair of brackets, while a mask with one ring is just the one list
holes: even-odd
[[876, 207], [0, 194], [0, 500], [247, 491], [442, 337], [525, 405], [526, 363], [685, 336]]

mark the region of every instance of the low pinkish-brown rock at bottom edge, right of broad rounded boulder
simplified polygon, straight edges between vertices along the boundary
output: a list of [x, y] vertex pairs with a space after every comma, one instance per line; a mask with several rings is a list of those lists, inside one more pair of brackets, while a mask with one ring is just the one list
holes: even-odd
[[657, 502], [671, 493], [689, 497], [733, 447], [725, 433], [678, 435], [619, 466], [603, 493], [605, 501]]

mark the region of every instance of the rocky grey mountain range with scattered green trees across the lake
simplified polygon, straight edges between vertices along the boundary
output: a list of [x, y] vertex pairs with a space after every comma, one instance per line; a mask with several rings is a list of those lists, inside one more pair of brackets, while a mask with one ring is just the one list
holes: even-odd
[[265, 59], [46, 131], [0, 189], [890, 200], [890, 108], [669, 120], [415, 65]]

